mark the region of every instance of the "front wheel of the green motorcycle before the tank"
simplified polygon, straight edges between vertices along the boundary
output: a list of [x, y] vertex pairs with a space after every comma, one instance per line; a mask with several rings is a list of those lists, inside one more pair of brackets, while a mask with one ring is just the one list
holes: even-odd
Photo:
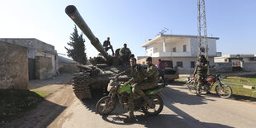
[[100, 115], [110, 114], [111, 111], [115, 109], [115, 107], [116, 107], [115, 98], [111, 100], [111, 97], [109, 96], [102, 97], [96, 104], [97, 113], [99, 113]]

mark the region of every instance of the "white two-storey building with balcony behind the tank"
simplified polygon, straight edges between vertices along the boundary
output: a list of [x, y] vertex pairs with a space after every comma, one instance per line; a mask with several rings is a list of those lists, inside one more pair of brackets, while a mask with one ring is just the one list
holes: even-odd
[[[221, 55], [216, 51], [216, 40], [219, 38], [207, 38], [210, 65], [214, 57]], [[160, 35], [147, 40], [142, 47], [145, 47], [145, 56], [138, 56], [140, 64], [145, 64], [146, 56], [153, 58], [153, 64], [157, 64], [158, 59], [172, 60], [173, 68], [179, 73], [192, 73], [197, 64], [197, 36]]]

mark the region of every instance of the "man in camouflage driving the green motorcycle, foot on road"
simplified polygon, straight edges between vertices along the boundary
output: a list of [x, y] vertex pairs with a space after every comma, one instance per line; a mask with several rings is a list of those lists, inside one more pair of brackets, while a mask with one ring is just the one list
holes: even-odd
[[[120, 75], [130, 75], [132, 78], [130, 78], [125, 85], [128, 83], [131, 84], [132, 88], [134, 88], [137, 84], [140, 84], [143, 82], [145, 79], [144, 72], [145, 69], [140, 64], [136, 64], [136, 59], [135, 58], [130, 58], [130, 66], [131, 68], [123, 71], [121, 73], [116, 74], [116, 77], [119, 77]], [[130, 93], [130, 98], [128, 102], [129, 106], [129, 116], [124, 120], [124, 122], [130, 122], [130, 121], [135, 121], [135, 116], [134, 116], [134, 93]]]

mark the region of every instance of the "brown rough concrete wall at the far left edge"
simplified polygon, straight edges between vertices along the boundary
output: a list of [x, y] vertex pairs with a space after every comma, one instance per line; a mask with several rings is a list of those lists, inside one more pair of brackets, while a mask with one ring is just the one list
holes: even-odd
[[28, 50], [0, 41], [0, 88], [27, 89]]

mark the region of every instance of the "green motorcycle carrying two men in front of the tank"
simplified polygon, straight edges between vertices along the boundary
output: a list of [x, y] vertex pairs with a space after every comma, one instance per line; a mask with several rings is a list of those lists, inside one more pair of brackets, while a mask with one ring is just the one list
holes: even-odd
[[[142, 110], [145, 115], [156, 116], [163, 110], [164, 102], [162, 98], [158, 95], [159, 92], [164, 90], [164, 85], [158, 85], [154, 88], [144, 90], [145, 95], [149, 97], [149, 103], [142, 107], [144, 99], [140, 95], [135, 94], [134, 106], [135, 111]], [[96, 105], [97, 113], [100, 115], [108, 115], [116, 107], [116, 97], [121, 104], [121, 107], [128, 109], [128, 101], [131, 94], [131, 85], [125, 85], [121, 82], [118, 82], [118, 78], [111, 79], [108, 83], [107, 91], [109, 92], [108, 96], [102, 97]]]

